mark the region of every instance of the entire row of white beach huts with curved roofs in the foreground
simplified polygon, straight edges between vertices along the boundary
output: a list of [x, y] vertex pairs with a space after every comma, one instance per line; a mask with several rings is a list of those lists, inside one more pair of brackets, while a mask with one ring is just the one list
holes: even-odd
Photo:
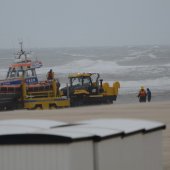
[[33, 126], [29, 121], [26, 125], [17, 121], [0, 121], [0, 169], [162, 169], [163, 123], [97, 119], [67, 124], [44, 120], [41, 126]]

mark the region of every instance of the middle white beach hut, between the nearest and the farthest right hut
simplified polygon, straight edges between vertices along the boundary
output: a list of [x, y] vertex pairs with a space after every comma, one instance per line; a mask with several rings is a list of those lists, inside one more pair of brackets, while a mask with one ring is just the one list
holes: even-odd
[[63, 127], [62, 130], [69, 133], [88, 133], [93, 136], [94, 170], [120, 169], [122, 164], [120, 147], [123, 131], [102, 127], [92, 127], [81, 124], [71, 127]]

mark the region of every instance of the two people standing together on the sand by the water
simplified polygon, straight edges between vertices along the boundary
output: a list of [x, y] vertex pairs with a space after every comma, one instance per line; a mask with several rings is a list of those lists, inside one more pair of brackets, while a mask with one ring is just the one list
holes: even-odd
[[146, 102], [146, 100], [150, 102], [151, 97], [152, 97], [152, 94], [151, 94], [150, 89], [147, 88], [145, 90], [144, 87], [142, 86], [138, 93], [139, 102]]

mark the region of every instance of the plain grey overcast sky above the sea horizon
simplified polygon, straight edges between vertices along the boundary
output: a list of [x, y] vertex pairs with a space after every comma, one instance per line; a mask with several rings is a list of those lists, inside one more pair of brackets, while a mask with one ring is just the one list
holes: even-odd
[[[170, 0], [0, 0], [0, 48], [170, 44]], [[17, 45], [16, 45], [17, 44]]]

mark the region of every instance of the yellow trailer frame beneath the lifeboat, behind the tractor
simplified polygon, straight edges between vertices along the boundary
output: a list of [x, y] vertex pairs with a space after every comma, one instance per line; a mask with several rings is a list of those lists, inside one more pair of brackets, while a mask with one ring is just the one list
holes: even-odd
[[25, 109], [57, 109], [70, 106], [70, 100], [61, 96], [56, 81], [52, 80], [52, 88], [40, 91], [28, 91], [22, 84], [22, 101]]

